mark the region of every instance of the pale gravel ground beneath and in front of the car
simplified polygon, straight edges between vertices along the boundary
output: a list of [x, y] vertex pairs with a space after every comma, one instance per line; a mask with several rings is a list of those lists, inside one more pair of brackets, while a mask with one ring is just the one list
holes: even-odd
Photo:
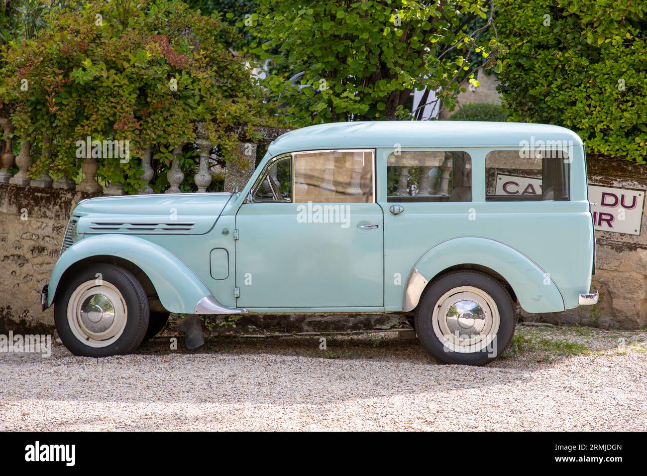
[[[620, 344], [620, 345], [619, 345]], [[157, 338], [131, 356], [0, 354], [3, 430], [647, 429], [647, 332], [521, 326], [487, 367], [395, 332]], [[179, 344], [182, 348], [182, 343]]]

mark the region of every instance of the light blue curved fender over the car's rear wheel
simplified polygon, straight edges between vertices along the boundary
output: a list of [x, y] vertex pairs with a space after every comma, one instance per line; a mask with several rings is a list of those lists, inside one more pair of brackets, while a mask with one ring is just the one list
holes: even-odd
[[550, 275], [517, 249], [490, 238], [465, 236], [441, 242], [422, 255], [411, 270], [403, 310], [417, 306], [426, 284], [445, 269], [461, 265], [488, 267], [512, 287], [526, 312], [563, 311], [562, 293]]

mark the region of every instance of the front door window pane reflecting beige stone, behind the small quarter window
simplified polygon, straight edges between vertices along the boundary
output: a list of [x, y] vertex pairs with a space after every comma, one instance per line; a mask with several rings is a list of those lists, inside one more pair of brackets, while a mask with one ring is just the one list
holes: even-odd
[[296, 152], [294, 203], [371, 203], [372, 150]]

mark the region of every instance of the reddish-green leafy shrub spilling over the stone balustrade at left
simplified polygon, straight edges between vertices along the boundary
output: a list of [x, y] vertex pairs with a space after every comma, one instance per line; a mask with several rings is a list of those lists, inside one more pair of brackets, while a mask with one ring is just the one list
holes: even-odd
[[[15, 136], [32, 142], [54, 178], [78, 174], [76, 141], [130, 141], [133, 157], [151, 144], [168, 163], [173, 146], [195, 140], [195, 122], [231, 160], [239, 135], [253, 136], [260, 89], [225, 43], [234, 35], [217, 14], [180, 1], [91, 0], [49, 10], [33, 40], [3, 48], [0, 103], [11, 105]], [[22, 86], [22, 87], [21, 87]], [[1, 104], [0, 104], [1, 106]], [[52, 139], [45, 163], [43, 135]], [[141, 185], [139, 161], [98, 159], [99, 179]]]

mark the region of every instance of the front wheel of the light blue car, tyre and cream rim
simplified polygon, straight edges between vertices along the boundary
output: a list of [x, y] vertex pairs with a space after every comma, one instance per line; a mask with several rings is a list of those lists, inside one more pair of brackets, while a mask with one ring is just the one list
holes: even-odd
[[129, 354], [142, 343], [148, 321], [146, 291], [132, 273], [113, 264], [91, 264], [76, 273], [54, 303], [58, 335], [76, 356]]

